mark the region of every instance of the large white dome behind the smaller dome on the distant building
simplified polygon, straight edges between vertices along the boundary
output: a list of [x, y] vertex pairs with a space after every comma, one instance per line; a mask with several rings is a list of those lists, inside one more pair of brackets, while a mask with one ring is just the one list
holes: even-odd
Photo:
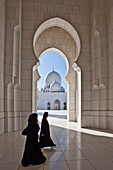
[[61, 84], [61, 76], [56, 71], [52, 71], [46, 76], [45, 83], [51, 85], [55, 81]]

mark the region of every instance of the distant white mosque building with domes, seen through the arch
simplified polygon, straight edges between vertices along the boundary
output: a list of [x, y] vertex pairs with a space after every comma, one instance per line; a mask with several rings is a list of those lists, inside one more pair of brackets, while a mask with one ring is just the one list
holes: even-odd
[[44, 88], [38, 90], [38, 110], [67, 110], [67, 92], [54, 69], [46, 75]]

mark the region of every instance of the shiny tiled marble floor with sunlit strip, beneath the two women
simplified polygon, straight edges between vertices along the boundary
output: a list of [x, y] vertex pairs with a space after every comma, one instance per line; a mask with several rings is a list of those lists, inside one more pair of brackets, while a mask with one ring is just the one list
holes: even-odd
[[57, 146], [42, 150], [46, 163], [22, 167], [25, 137], [16, 131], [0, 135], [0, 170], [113, 170], [113, 134], [78, 129], [63, 119], [48, 121]]

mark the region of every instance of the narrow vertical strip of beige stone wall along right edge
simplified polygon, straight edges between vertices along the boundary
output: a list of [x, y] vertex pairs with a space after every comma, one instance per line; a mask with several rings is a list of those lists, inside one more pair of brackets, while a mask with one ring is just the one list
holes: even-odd
[[108, 128], [113, 129], [113, 1], [106, 1], [108, 35]]

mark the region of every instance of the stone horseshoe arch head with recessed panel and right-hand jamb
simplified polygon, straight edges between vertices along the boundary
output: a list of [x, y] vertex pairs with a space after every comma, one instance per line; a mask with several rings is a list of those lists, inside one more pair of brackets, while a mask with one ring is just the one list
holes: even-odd
[[68, 57], [70, 68], [67, 75], [70, 94], [68, 98], [69, 101], [67, 102], [69, 103], [69, 105], [67, 104], [67, 107], [69, 108], [68, 121], [77, 122], [80, 127], [81, 69], [77, 65], [77, 59], [80, 53], [80, 38], [77, 31], [71, 24], [60, 18], [52, 18], [45, 21], [39, 26], [34, 35], [33, 48], [36, 57], [39, 59], [41, 53], [51, 47], [59, 49]]

